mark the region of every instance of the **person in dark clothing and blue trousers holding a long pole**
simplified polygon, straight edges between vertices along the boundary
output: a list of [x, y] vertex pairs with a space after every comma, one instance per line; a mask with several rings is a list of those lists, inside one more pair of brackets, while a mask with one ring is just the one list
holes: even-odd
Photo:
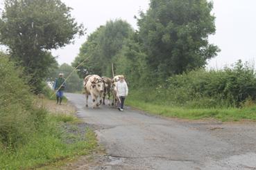
[[53, 84], [53, 89], [56, 91], [56, 100], [57, 104], [61, 105], [62, 102], [62, 97], [63, 97], [63, 91], [65, 90], [66, 87], [66, 80], [63, 78], [63, 73], [59, 74], [59, 77], [56, 78], [54, 84]]

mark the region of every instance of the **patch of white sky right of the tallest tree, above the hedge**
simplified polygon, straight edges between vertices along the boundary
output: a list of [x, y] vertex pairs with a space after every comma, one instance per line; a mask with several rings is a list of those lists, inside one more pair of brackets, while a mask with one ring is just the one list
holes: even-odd
[[216, 34], [210, 36], [210, 42], [219, 46], [221, 52], [210, 60], [210, 68], [223, 68], [238, 59], [255, 66], [255, 6], [255, 0], [214, 0]]

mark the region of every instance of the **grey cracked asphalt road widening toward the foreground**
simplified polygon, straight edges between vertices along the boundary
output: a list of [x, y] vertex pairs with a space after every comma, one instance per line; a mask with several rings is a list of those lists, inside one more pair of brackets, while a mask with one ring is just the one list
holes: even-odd
[[85, 107], [65, 93], [77, 116], [96, 127], [109, 160], [94, 169], [256, 169], [256, 122], [222, 123], [156, 117], [112, 106]]

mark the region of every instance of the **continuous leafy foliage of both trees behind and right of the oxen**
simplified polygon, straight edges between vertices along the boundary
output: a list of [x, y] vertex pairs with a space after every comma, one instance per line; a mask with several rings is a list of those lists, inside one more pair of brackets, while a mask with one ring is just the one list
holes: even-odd
[[212, 2], [206, 0], [151, 0], [146, 13], [138, 19], [139, 30], [116, 20], [101, 26], [80, 48], [72, 64], [80, 67], [80, 77], [98, 74], [125, 75], [129, 86], [156, 86], [167, 77], [203, 68], [219, 51], [209, 44], [214, 34]]

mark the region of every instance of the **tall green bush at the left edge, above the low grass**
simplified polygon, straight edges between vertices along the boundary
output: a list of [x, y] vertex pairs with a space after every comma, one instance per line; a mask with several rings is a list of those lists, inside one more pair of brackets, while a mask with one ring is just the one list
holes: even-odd
[[15, 67], [0, 53], [0, 145], [15, 148], [28, 140], [35, 125], [43, 119], [33, 108], [30, 88], [22, 79], [22, 68]]

